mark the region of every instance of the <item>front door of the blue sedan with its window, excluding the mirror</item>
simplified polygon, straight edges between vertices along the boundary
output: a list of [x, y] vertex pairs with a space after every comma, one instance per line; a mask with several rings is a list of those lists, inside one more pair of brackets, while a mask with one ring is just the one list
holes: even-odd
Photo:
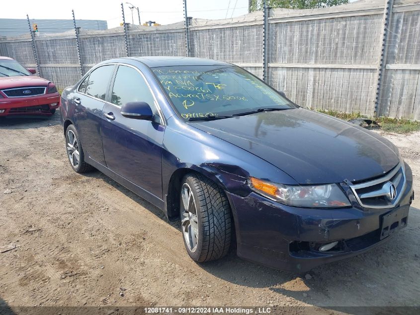
[[[162, 145], [165, 126], [155, 99], [139, 70], [118, 66], [109, 102], [103, 108], [102, 143], [106, 166], [162, 199]], [[121, 105], [146, 102], [154, 121], [126, 118]]]

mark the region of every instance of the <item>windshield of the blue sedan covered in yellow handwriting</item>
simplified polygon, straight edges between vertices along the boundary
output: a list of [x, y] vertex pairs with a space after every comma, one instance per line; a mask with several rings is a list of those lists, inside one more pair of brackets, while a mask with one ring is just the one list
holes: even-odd
[[153, 68], [182, 118], [238, 115], [261, 108], [295, 108], [290, 101], [242, 68], [172, 66]]

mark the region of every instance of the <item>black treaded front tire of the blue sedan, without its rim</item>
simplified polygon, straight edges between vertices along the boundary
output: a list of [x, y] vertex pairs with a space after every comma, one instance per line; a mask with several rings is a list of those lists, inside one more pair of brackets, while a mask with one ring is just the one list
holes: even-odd
[[[186, 240], [182, 224], [184, 212], [182, 189], [191, 188], [198, 221], [198, 241], [194, 251]], [[225, 192], [213, 181], [200, 174], [188, 174], [182, 180], [180, 195], [181, 231], [188, 255], [196, 262], [219, 259], [229, 252], [231, 245], [231, 209]]]

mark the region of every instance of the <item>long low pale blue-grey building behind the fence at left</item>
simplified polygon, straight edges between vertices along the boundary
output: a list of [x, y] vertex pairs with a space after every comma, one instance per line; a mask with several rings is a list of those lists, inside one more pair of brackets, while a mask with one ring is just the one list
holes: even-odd
[[[30, 19], [31, 28], [37, 24], [38, 32], [61, 33], [74, 29], [73, 20]], [[76, 20], [78, 27], [83, 29], [107, 29], [104, 20]], [[0, 36], [18, 36], [29, 32], [28, 20], [24, 18], [0, 18]]]

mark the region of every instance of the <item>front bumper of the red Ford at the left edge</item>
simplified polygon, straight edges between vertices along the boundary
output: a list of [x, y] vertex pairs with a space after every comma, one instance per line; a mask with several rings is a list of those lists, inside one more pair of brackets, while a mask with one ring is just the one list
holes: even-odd
[[51, 115], [60, 105], [60, 94], [51, 93], [27, 98], [1, 98], [0, 116]]

